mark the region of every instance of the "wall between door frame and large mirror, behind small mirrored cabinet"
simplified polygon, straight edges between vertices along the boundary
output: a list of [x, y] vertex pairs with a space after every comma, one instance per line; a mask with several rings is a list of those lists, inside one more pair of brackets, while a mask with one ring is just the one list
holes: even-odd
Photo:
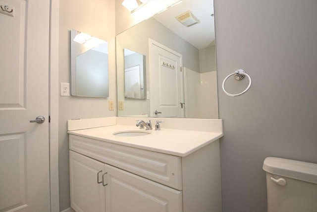
[[[70, 82], [70, 29], [108, 41], [109, 97], [59, 96], [58, 171], [60, 211], [70, 207], [67, 120], [115, 116], [108, 100], [116, 102], [114, 0], [59, 1], [59, 82]], [[116, 107], [116, 105], [115, 105]]]

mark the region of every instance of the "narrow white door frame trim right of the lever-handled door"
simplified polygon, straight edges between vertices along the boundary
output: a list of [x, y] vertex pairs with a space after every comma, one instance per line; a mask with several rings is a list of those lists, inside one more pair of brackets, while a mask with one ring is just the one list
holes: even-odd
[[49, 124], [51, 212], [59, 211], [58, 182], [58, 21], [59, 0], [50, 0]]

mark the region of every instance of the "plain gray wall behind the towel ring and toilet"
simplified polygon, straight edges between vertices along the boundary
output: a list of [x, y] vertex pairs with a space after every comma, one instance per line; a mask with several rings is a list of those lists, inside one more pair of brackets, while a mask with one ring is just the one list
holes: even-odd
[[[214, 1], [223, 212], [266, 212], [265, 157], [317, 163], [316, 11], [316, 0]], [[252, 86], [226, 96], [237, 69]]]

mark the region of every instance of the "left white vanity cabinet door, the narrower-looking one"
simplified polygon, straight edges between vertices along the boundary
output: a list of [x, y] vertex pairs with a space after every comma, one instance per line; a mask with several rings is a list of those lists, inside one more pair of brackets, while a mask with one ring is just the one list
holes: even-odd
[[105, 164], [69, 151], [69, 169], [71, 208], [76, 212], [105, 212]]

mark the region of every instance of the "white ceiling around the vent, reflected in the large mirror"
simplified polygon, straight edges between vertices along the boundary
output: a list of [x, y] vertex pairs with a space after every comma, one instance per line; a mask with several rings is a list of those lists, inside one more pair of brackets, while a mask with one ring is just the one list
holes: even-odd
[[[175, 17], [188, 10], [200, 22], [186, 27]], [[213, 0], [183, 0], [153, 17], [196, 48], [203, 49], [214, 45], [214, 19], [211, 14], [213, 14]]]

